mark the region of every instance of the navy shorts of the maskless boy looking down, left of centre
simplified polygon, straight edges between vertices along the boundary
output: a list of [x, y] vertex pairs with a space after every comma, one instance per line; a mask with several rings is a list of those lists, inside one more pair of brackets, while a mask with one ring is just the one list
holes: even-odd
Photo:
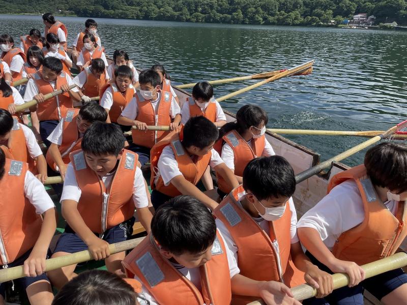
[[[102, 239], [108, 243], [115, 243], [127, 240], [133, 234], [134, 217], [126, 220], [125, 222], [107, 229], [102, 236]], [[99, 233], [95, 233], [99, 237]], [[76, 253], [79, 251], [88, 250], [86, 243], [72, 230], [67, 224], [65, 232], [61, 234], [58, 242], [56, 243], [56, 252]]]

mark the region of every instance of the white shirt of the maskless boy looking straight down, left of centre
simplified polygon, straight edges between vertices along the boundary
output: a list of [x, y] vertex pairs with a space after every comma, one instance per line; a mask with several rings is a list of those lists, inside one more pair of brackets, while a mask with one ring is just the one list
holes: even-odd
[[[112, 172], [102, 177], [106, 189], [109, 188], [112, 178], [114, 177], [114, 173], [115, 172]], [[81, 193], [82, 191], [78, 187], [73, 165], [72, 163], [70, 163], [65, 174], [64, 189], [62, 191], [61, 202], [63, 200], [73, 200], [79, 202]], [[133, 180], [133, 202], [136, 208], [149, 206], [146, 185], [144, 184], [144, 177], [141, 169], [139, 169], [138, 167], [136, 167], [136, 172]]]

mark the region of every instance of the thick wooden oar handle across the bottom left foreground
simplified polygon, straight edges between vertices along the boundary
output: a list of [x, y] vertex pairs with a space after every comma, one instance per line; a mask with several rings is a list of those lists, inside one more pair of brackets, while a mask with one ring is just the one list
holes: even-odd
[[[134, 249], [144, 237], [125, 240], [109, 245], [110, 254], [123, 252], [126, 250]], [[55, 270], [61, 267], [82, 263], [85, 261], [93, 260], [93, 256], [89, 250], [84, 250], [65, 256], [50, 258], [45, 261], [45, 270]], [[0, 283], [15, 280], [25, 277], [23, 266], [11, 267], [0, 270]]]

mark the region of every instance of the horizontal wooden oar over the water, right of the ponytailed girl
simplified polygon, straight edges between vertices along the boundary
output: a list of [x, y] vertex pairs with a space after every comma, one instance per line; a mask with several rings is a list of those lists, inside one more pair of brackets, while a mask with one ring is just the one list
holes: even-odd
[[[283, 135], [318, 135], [318, 136], [355, 136], [355, 137], [374, 137], [383, 133], [383, 130], [369, 131], [342, 131], [342, 130], [308, 130], [308, 129], [274, 129], [268, 128], [267, 131]], [[396, 136], [395, 136], [396, 135]], [[395, 132], [394, 138], [407, 139], [407, 134]]]

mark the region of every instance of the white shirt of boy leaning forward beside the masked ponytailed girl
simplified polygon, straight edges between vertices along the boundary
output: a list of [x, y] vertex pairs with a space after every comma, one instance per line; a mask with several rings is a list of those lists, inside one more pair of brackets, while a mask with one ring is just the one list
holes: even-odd
[[[211, 152], [212, 156], [211, 160], [209, 161], [209, 166], [211, 168], [224, 163], [215, 149], [212, 148]], [[178, 167], [178, 162], [175, 159], [174, 152], [172, 151], [170, 145], [164, 147], [164, 149], [162, 150], [160, 159], [158, 159], [157, 167], [158, 171], [156, 181], [161, 176], [165, 186], [168, 186], [170, 184], [172, 178], [182, 175]]]

